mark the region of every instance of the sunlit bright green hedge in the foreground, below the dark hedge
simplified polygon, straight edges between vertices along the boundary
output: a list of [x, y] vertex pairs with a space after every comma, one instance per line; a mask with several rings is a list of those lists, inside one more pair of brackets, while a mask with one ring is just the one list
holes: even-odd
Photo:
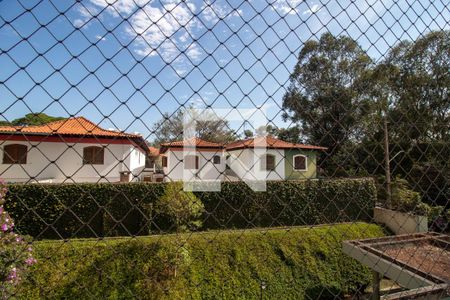
[[369, 270], [342, 241], [379, 237], [354, 223], [34, 243], [38, 263], [18, 299], [335, 299], [367, 286]]

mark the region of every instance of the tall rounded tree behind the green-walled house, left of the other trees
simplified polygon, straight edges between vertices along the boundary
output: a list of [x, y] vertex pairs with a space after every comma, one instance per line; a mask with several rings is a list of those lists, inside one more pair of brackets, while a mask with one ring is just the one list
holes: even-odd
[[283, 97], [283, 118], [298, 123], [308, 142], [330, 154], [358, 137], [358, 126], [370, 106], [366, 73], [372, 60], [347, 36], [323, 34], [300, 51]]

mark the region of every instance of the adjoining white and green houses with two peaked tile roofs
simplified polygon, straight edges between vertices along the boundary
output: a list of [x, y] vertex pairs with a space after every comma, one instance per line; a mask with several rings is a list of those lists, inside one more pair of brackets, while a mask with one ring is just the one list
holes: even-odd
[[159, 155], [165, 181], [291, 180], [317, 177], [317, 151], [271, 136], [226, 145], [194, 138], [164, 143]]

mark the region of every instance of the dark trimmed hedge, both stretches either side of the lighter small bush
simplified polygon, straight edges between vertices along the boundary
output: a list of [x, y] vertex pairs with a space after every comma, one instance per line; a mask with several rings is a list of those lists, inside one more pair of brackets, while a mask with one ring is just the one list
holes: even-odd
[[[149, 210], [168, 184], [12, 184], [6, 209], [19, 233], [36, 238], [170, 232], [174, 220]], [[220, 192], [195, 195], [205, 207], [201, 229], [208, 230], [370, 221], [376, 188], [367, 178], [272, 181], [267, 192], [224, 182]]]

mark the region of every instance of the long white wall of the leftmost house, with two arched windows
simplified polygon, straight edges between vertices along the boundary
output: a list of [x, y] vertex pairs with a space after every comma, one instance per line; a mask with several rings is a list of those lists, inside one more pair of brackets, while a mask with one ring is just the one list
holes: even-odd
[[3, 162], [3, 147], [8, 144], [26, 145], [28, 154], [24, 165], [0, 164], [0, 178], [7, 182], [30, 182], [30, 177], [46, 182], [117, 182], [119, 172], [131, 171], [139, 175], [145, 166], [145, 154], [129, 144], [104, 145], [103, 165], [83, 165], [83, 148], [100, 144], [16, 141], [0, 142], [0, 163]]

